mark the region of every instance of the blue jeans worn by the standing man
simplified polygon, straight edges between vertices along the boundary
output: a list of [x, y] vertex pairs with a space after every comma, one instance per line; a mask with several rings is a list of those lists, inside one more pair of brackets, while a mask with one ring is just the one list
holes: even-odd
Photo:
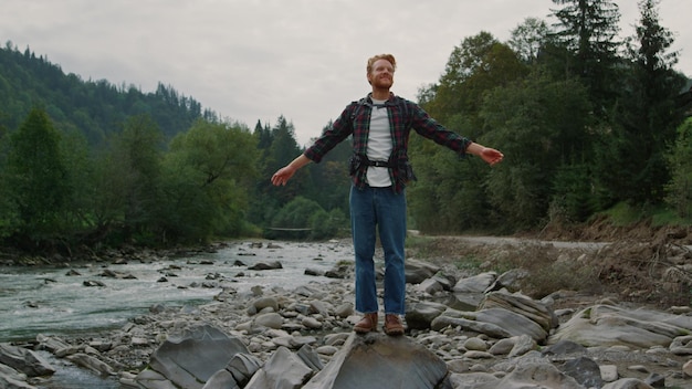
[[391, 187], [350, 187], [350, 229], [356, 254], [356, 311], [378, 312], [375, 274], [376, 231], [385, 252], [385, 313], [403, 315], [406, 193]]

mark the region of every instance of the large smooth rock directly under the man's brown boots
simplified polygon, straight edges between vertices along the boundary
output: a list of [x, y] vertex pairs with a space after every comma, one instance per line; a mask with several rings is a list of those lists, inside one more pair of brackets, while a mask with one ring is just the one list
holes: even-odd
[[303, 388], [451, 388], [447, 372], [444, 361], [408, 337], [354, 333]]

